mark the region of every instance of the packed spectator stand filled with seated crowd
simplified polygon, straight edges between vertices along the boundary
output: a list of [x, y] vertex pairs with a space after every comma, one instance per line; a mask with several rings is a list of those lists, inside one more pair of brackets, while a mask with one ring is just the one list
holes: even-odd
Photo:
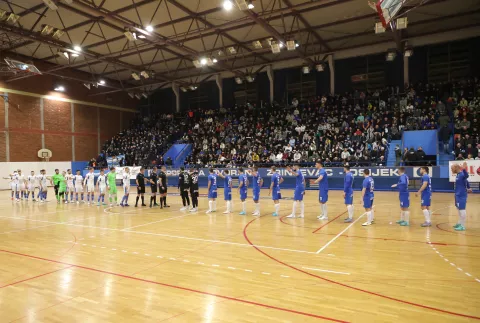
[[[324, 95], [291, 104], [188, 111], [138, 118], [104, 146], [126, 165], [169, 164], [162, 154], [176, 140], [193, 145], [190, 166], [385, 166], [389, 142], [405, 130], [439, 130], [443, 149], [457, 159], [478, 158], [476, 82], [407, 85], [403, 91]], [[480, 95], [479, 95], [480, 96]], [[454, 131], [452, 131], [454, 129]], [[397, 165], [430, 165], [422, 147], [395, 147]]]

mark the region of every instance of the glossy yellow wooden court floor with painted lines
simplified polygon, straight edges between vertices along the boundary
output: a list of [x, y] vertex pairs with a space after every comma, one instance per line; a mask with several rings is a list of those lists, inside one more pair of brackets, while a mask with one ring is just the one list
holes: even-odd
[[[292, 196], [292, 191], [284, 191]], [[412, 196], [411, 226], [397, 193], [377, 192], [376, 224], [341, 192], [318, 221], [281, 216], [262, 191], [262, 216], [12, 203], [0, 192], [0, 322], [475, 322], [480, 321], [480, 196], [455, 232], [453, 194], [433, 195], [431, 228]], [[50, 192], [52, 194], [52, 192]], [[360, 202], [356, 192], [356, 201]], [[223, 192], [219, 192], [223, 196]], [[53, 196], [50, 196], [52, 198]], [[133, 203], [134, 195], [130, 197]], [[248, 214], [253, 202], [248, 202]]]

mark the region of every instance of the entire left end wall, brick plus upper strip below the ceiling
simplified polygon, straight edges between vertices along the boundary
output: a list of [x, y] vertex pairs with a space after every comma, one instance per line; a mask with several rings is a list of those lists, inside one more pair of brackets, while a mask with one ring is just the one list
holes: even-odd
[[[57, 84], [66, 91], [54, 92]], [[105, 140], [128, 127], [138, 101], [123, 92], [93, 93], [81, 83], [49, 75], [0, 80], [0, 162], [39, 161], [42, 148], [52, 151], [50, 161], [96, 157]]]

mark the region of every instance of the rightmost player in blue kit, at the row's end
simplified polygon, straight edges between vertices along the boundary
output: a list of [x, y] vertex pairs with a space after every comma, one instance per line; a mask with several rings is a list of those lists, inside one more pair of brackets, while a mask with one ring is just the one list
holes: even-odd
[[458, 210], [458, 223], [453, 226], [455, 231], [465, 231], [465, 221], [467, 219], [467, 195], [472, 192], [470, 183], [468, 182], [468, 165], [463, 163], [460, 165], [452, 165], [452, 173], [456, 174], [455, 178], [455, 206]]

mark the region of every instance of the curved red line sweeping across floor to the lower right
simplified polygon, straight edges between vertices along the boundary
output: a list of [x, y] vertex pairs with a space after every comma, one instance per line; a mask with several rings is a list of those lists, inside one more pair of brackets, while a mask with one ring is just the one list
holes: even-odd
[[345, 288], [348, 288], [348, 289], [352, 289], [352, 290], [355, 290], [355, 291], [358, 291], [358, 292], [362, 292], [362, 293], [366, 293], [366, 294], [369, 294], [369, 295], [373, 295], [373, 296], [377, 296], [377, 297], [381, 297], [381, 298], [385, 298], [385, 299], [388, 299], [388, 300], [391, 300], [391, 301], [395, 301], [395, 302], [399, 302], [399, 303], [403, 303], [403, 304], [406, 304], [406, 305], [412, 305], [412, 306], [415, 306], [415, 307], [419, 307], [419, 308], [423, 308], [423, 309], [428, 309], [428, 310], [433, 310], [433, 311], [437, 311], [437, 312], [440, 312], [440, 313], [444, 313], [444, 314], [450, 314], [450, 315], [455, 315], [455, 316], [460, 316], [460, 317], [466, 317], [466, 318], [472, 318], [472, 319], [476, 319], [476, 320], [480, 320], [480, 317], [478, 316], [473, 316], [473, 315], [468, 315], [468, 314], [462, 314], [462, 313], [456, 313], [456, 312], [451, 312], [451, 311], [447, 311], [447, 310], [443, 310], [443, 309], [440, 309], [440, 308], [436, 308], [436, 307], [431, 307], [431, 306], [427, 306], [427, 305], [423, 305], [423, 304], [418, 304], [418, 303], [413, 303], [413, 302], [409, 302], [409, 301], [405, 301], [405, 300], [402, 300], [402, 299], [399, 299], [399, 298], [395, 298], [395, 297], [392, 297], [392, 296], [387, 296], [387, 295], [383, 295], [383, 294], [380, 294], [380, 293], [376, 293], [376, 292], [372, 292], [372, 291], [369, 291], [369, 290], [366, 290], [366, 289], [362, 289], [362, 288], [359, 288], [359, 287], [355, 287], [355, 286], [351, 286], [351, 285], [347, 285], [347, 284], [344, 284], [344, 283], [341, 283], [341, 282], [338, 282], [338, 281], [335, 281], [335, 280], [332, 280], [332, 279], [328, 279], [328, 278], [325, 278], [325, 277], [321, 277], [321, 276], [318, 276], [318, 275], [315, 275], [313, 273], [310, 273], [308, 271], [305, 271], [305, 270], [302, 270], [298, 267], [295, 267], [295, 266], [292, 266], [292, 265], [289, 265], [287, 264], [286, 262], [283, 262], [271, 255], [269, 255], [268, 253], [266, 253], [265, 251], [263, 250], [260, 250], [259, 248], [256, 248], [254, 246], [254, 244], [251, 242], [251, 240], [248, 238], [248, 234], [247, 234], [247, 229], [248, 227], [250, 226], [251, 223], [253, 223], [254, 221], [256, 221], [258, 218], [255, 218], [255, 219], [252, 219], [250, 222], [248, 222], [245, 227], [243, 228], [243, 236], [245, 238], [245, 240], [253, 247], [255, 248], [255, 250], [257, 250], [258, 252], [262, 253], [264, 256], [270, 258], [271, 260], [283, 265], [283, 266], [286, 266], [286, 267], [289, 267], [295, 271], [298, 271], [298, 272], [301, 272], [301, 273], [304, 273], [308, 276], [311, 276], [311, 277], [315, 277], [315, 278], [318, 278], [320, 280], [323, 280], [323, 281], [326, 281], [328, 283], [331, 283], [331, 284], [335, 284], [335, 285], [338, 285], [338, 286], [342, 286], [342, 287], [345, 287]]

